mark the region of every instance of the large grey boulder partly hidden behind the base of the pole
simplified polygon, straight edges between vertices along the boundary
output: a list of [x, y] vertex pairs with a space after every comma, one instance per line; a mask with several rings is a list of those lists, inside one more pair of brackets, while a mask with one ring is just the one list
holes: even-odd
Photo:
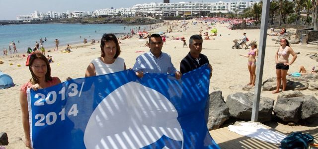
[[[227, 97], [226, 104], [230, 109], [232, 117], [250, 120], [252, 114], [253, 94], [235, 93]], [[258, 121], [265, 122], [271, 120], [274, 100], [260, 98]]]

